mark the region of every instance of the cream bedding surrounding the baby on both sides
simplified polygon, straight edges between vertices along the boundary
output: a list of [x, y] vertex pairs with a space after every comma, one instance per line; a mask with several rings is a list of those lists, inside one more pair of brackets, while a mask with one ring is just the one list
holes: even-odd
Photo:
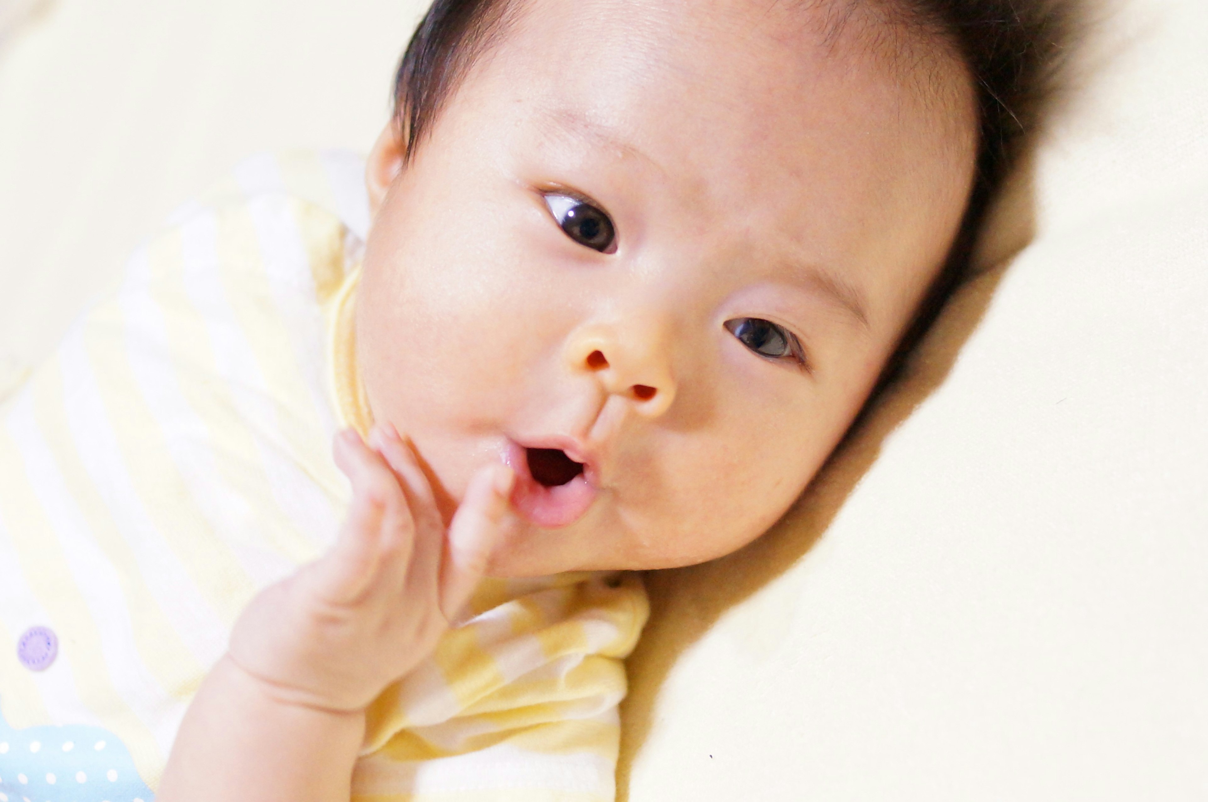
[[[364, 150], [418, 12], [58, 0], [0, 43], [0, 372], [242, 156]], [[629, 800], [1208, 796], [1208, 5], [1104, 16], [907, 382], [768, 537], [656, 579]]]

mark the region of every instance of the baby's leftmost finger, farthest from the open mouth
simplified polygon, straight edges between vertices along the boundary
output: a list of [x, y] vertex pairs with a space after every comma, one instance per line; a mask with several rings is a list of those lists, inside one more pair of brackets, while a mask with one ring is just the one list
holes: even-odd
[[394, 475], [356, 432], [337, 435], [333, 451], [353, 486], [353, 501], [339, 536], [312, 576], [326, 599], [353, 604], [382, 583], [401, 583], [411, 557], [412, 522]]

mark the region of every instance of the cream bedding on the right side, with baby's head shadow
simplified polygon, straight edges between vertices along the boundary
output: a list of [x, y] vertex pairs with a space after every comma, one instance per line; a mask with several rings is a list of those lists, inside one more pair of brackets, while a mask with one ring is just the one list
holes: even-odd
[[983, 265], [1032, 244], [771, 534], [651, 579], [631, 802], [1208, 790], [1204, 30], [1105, 14]]

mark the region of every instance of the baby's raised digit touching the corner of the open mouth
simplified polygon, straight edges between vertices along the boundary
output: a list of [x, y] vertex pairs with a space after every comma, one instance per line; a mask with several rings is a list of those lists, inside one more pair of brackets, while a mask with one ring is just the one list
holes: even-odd
[[470, 480], [461, 506], [453, 515], [441, 560], [441, 612], [449, 623], [487, 570], [490, 554], [503, 539], [504, 513], [516, 473], [507, 465], [490, 465]]

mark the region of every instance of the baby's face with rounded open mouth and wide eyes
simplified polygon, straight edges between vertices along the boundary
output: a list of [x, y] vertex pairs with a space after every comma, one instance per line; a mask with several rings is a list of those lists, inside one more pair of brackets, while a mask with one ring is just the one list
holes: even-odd
[[900, 74], [875, 31], [795, 5], [528, 0], [405, 169], [379, 139], [366, 393], [446, 519], [484, 463], [517, 469], [490, 573], [759, 536], [942, 262], [975, 158], [964, 71]]

